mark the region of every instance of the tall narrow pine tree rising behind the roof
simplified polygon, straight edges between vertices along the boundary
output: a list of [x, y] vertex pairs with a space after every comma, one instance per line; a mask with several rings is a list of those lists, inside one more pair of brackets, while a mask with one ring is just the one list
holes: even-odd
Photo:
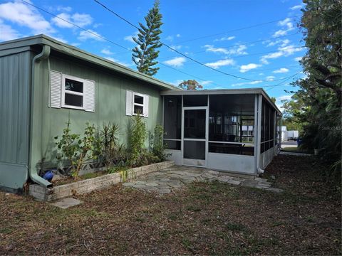
[[148, 11], [145, 16], [146, 26], [139, 23], [138, 38], [133, 37], [135, 43], [138, 44], [133, 49], [132, 60], [137, 65], [138, 71], [146, 75], [155, 75], [159, 68], [152, 68], [158, 62], [155, 60], [159, 55], [159, 50], [162, 46], [160, 40], [160, 26], [162, 26], [162, 14], [160, 14], [159, 0], [155, 0], [153, 8]]

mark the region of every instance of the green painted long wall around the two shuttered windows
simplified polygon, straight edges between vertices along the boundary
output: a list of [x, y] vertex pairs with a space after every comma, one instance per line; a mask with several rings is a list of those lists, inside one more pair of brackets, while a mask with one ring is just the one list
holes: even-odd
[[[49, 69], [78, 78], [94, 80], [95, 112], [48, 107]], [[34, 96], [32, 168], [39, 169], [40, 166], [37, 163], [41, 159], [56, 163], [56, 146], [53, 137], [62, 134], [68, 117], [71, 119], [72, 131], [78, 134], [83, 134], [86, 122], [95, 126], [102, 126], [103, 122], [119, 124], [120, 142], [127, 144], [128, 123], [132, 117], [125, 115], [126, 90], [150, 95], [149, 117], [144, 118], [148, 130], [152, 131], [156, 124], [162, 122], [162, 97], [159, 89], [154, 85], [120, 77], [116, 73], [110, 73], [110, 70], [90, 68], [86, 63], [66, 60], [66, 58], [52, 54], [48, 60], [43, 60], [39, 64], [39, 70], [39, 82]]]

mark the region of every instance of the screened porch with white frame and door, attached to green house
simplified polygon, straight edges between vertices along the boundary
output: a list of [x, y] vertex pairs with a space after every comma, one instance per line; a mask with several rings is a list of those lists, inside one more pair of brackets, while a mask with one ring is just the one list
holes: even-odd
[[168, 91], [163, 97], [164, 143], [178, 165], [256, 175], [276, 153], [281, 113], [263, 90]]

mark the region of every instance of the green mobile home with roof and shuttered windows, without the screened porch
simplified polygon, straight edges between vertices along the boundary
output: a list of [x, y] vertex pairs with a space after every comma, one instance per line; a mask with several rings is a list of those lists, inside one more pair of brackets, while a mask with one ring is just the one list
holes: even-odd
[[86, 122], [119, 124], [125, 143], [135, 110], [153, 129], [162, 123], [160, 92], [177, 90], [43, 35], [0, 43], [0, 82], [0, 188], [14, 192], [28, 179], [51, 186], [38, 174], [56, 162], [53, 137], [68, 119], [79, 134]]

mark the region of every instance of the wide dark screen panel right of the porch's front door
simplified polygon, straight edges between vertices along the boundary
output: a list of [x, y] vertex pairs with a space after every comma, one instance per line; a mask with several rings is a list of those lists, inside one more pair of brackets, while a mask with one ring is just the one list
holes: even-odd
[[254, 95], [209, 96], [209, 153], [254, 155]]

